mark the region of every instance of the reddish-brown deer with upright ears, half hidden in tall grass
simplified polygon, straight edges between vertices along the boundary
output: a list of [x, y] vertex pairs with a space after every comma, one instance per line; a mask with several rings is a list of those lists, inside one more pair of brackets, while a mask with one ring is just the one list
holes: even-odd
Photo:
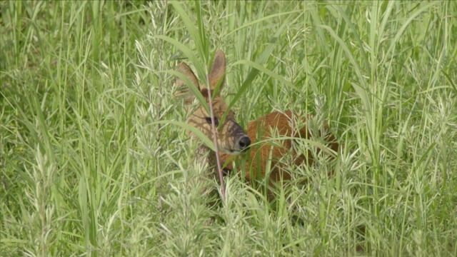
[[[246, 181], [252, 183], [258, 179], [268, 178], [268, 183], [274, 187], [274, 184], [281, 181], [281, 179], [283, 181], [291, 181], [293, 179], [291, 173], [286, 171], [284, 164], [281, 162], [281, 158], [284, 156], [291, 155], [293, 157], [293, 164], [296, 166], [302, 163], [308, 166], [313, 165], [314, 160], [311, 150], [308, 150], [307, 153], [298, 153], [293, 148], [292, 139], [304, 138], [312, 140], [316, 136], [316, 133], [313, 135], [313, 131], [306, 126], [306, 121], [313, 119], [312, 115], [301, 117], [291, 110], [283, 112], [273, 111], [248, 122], [247, 133], [245, 133], [243, 128], [236, 122], [234, 111], [227, 111], [228, 105], [221, 98], [221, 90], [224, 88], [226, 74], [226, 57], [223, 51], [219, 50], [216, 52], [213, 64], [211, 65], [208, 79], [209, 89], [199, 84], [199, 80], [194, 72], [184, 62], [179, 64], [178, 71], [184, 74], [196, 86], [196, 89], [199, 89], [199, 94], [204, 96], [208, 104], [211, 100], [209, 92], [211, 91], [215, 94], [212, 100], [214, 110], [214, 116], [212, 118], [217, 127], [216, 138], [219, 146], [219, 157], [221, 158], [221, 163], [226, 164], [224, 167], [225, 175], [233, 171], [233, 161], [236, 161], [234, 159], [240, 159], [242, 156], [246, 156], [244, 166], [244, 178]], [[220, 84], [219, 87], [218, 84]], [[184, 81], [179, 78], [176, 79], [175, 86], [181, 89], [179, 94], [184, 95], [184, 104], [191, 104], [195, 96], [190, 90], [182, 90], [186, 87]], [[222, 117], [226, 111], [226, 118], [222, 121]], [[296, 122], [296, 124], [304, 125], [301, 128], [294, 129], [294, 119], [301, 119], [301, 122]], [[221, 121], [223, 124], [220, 124]], [[204, 106], [196, 106], [186, 121], [187, 124], [194, 126], [209, 138], [212, 138], [213, 135], [211, 122], [211, 115], [208, 114]], [[188, 133], [191, 138], [196, 138], [192, 132]], [[271, 138], [274, 136], [284, 139], [272, 141]], [[338, 152], [340, 146], [335, 136], [328, 131], [328, 125], [326, 123], [323, 124], [323, 130], [318, 132], [318, 136], [322, 136], [326, 141], [326, 146], [323, 147], [330, 148], [335, 153]], [[316, 152], [318, 151], [321, 151], [321, 149], [318, 148]], [[206, 162], [209, 167], [214, 168], [216, 166], [216, 155], [208, 146], [202, 144], [199, 146], [197, 153], [200, 156], [204, 156], [202, 157], [202, 161]], [[216, 177], [216, 168], [214, 168], [214, 172], [210, 173]], [[331, 175], [331, 172], [328, 174]], [[301, 183], [307, 183], [307, 180], [303, 179]]]

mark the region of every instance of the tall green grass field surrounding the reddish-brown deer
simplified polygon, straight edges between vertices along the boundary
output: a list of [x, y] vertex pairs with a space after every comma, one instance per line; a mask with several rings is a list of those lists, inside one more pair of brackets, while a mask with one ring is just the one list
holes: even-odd
[[[457, 256], [456, 1], [0, 7], [0, 256]], [[293, 109], [345, 146], [275, 204], [201, 194], [171, 70], [217, 49], [241, 126]]]

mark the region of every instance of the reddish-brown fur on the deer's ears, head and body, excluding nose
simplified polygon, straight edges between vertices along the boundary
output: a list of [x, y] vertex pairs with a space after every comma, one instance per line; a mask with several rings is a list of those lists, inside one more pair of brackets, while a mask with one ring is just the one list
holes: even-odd
[[[214, 117], [219, 121], [228, 108], [227, 104], [220, 96], [221, 89], [224, 87], [225, 69], [225, 56], [224, 53], [219, 50], [216, 53], [213, 65], [211, 66], [211, 73], [209, 74], [209, 86], [211, 92], [217, 88], [219, 81], [222, 81], [219, 91], [216, 92], [216, 98], [212, 101]], [[209, 102], [209, 99], [211, 98], [209, 97], [208, 89], [199, 85], [196, 76], [191, 71], [189, 66], [186, 64], [180, 64], [179, 71], [181, 71], [181, 73], [184, 74], [191, 81], [191, 83], [199, 89], [206, 101]], [[184, 82], [181, 81], [181, 79], [178, 79], [176, 81], [176, 86], [182, 87], [184, 86]], [[181, 92], [183, 92], [182, 89]], [[190, 104], [194, 99], [194, 96], [191, 95], [189, 90], [184, 90], [184, 93], [186, 96], [186, 104]], [[246, 150], [241, 142], [244, 140], [244, 143], [246, 143], [246, 133], [244, 133], [241, 126], [236, 123], [234, 117], [235, 114], [233, 111], [229, 111], [224, 124], [219, 125], [219, 129], [217, 130], [217, 142], [219, 144], [219, 150], [221, 151], [219, 156], [221, 157], [222, 163], [226, 163], [226, 161], [228, 161], [226, 169], [229, 171], [233, 170], [231, 161], [229, 161], [232, 158], [231, 156], [233, 154], [242, 153]], [[270, 181], [279, 181], [281, 178], [283, 178], [283, 180], [291, 180], [291, 174], [285, 171], [283, 165], [279, 161], [283, 156], [288, 154], [293, 157], [296, 165], [300, 163], [312, 165], [313, 157], [311, 155], [311, 151], [308, 151], [306, 155], [298, 155], [295, 151], [293, 151], [293, 142], [290, 138], [283, 139], [281, 141], [269, 140], [270, 138], [277, 136], [306, 138], [312, 140], [313, 135], [311, 131], [308, 131], [306, 125], [302, 126], [301, 129], [292, 128], [292, 121], [297, 118], [297, 114], [294, 114], [292, 111], [285, 111], [284, 113], [275, 111], [249, 122], [247, 136], [251, 140], [249, 143], [253, 143], [253, 146], [251, 146], [247, 151], [248, 158], [245, 166], [246, 180], [251, 181], [253, 178], [257, 178], [258, 174], [261, 178], [264, 178], [266, 176], [266, 171], [270, 170], [270, 168]], [[311, 118], [312, 116], [307, 116], [306, 119]], [[199, 108], [197, 108], [196, 111], [189, 116], [187, 123], [204, 132], [209, 138], [212, 138], [211, 124], [209, 124], [208, 119], [209, 114], [206, 113], [203, 106], [199, 106]], [[302, 125], [306, 124], [306, 119], [302, 119]], [[331, 148], [333, 151], [338, 151], [339, 146], [335, 137], [331, 133], [328, 133], [328, 126], [326, 124], [323, 125], [324, 135], [319, 136], [323, 136], [326, 141], [329, 142], [327, 145], [328, 148]], [[276, 132], [273, 133], [274, 131]], [[204, 151], [202, 152], [207, 152], [209, 149], [204, 148], [203, 150]], [[318, 151], [320, 151], [320, 149], [318, 149]], [[268, 168], [267, 164], [270, 155], [272, 156], [271, 167]], [[238, 156], [237, 158], [240, 157]], [[211, 166], [215, 165], [214, 158], [212, 157], [207, 157], [206, 161], [209, 162], [209, 165]]]

